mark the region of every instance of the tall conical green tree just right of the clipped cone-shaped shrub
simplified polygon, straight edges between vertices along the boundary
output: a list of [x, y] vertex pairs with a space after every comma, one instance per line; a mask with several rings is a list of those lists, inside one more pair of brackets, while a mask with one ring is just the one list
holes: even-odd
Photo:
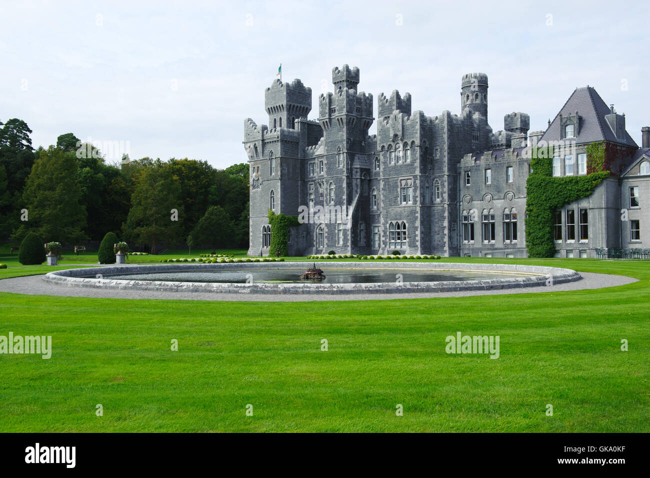
[[151, 246], [151, 254], [155, 254], [161, 243], [182, 241], [182, 221], [181, 185], [172, 170], [160, 160], [142, 168], [123, 227], [125, 235], [138, 245]]

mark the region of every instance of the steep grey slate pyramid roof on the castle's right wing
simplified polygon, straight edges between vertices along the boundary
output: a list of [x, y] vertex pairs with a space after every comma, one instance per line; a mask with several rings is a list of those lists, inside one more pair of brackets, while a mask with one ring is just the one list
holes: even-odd
[[539, 140], [557, 141], [560, 139], [560, 114], [568, 116], [578, 111], [580, 126], [578, 129], [578, 143], [593, 141], [610, 141], [638, 148], [638, 145], [629, 133], [625, 131], [625, 140], [618, 139], [610, 128], [605, 116], [610, 114], [610, 109], [603, 98], [591, 86], [576, 88], [562, 109], [556, 114], [551, 126]]

